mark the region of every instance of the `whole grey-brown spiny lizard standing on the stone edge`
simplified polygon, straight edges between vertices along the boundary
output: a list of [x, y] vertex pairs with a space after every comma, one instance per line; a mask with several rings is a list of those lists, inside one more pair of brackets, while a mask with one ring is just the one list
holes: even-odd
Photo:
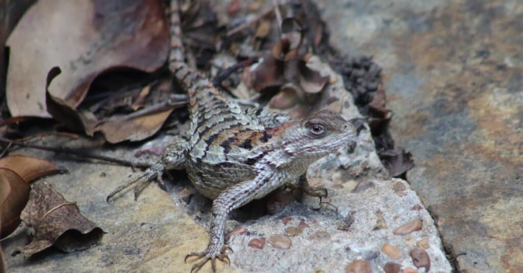
[[242, 109], [228, 100], [185, 62], [179, 12], [172, 0], [168, 65], [189, 95], [189, 131], [177, 135], [160, 161], [112, 191], [107, 200], [133, 183], [138, 183], [136, 198], [147, 181], [156, 178], [164, 185], [165, 170], [185, 169], [196, 190], [213, 200], [208, 246], [187, 254], [185, 261], [193, 256], [201, 259], [191, 272], [208, 261], [215, 271], [217, 259], [230, 264], [226, 252], [232, 249], [224, 242], [229, 212], [281, 186], [302, 187], [305, 194], [325, 197], [325, 188], [309, 186], [303, 176], [311, 163], [351, 142], [357, 130], [331, 110], [291, 119], [266, 107]]

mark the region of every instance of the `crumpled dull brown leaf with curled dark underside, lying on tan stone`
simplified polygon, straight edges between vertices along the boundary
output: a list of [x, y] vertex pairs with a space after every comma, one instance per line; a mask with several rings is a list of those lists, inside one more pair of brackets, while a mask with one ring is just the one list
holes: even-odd
[[19, 248], [35, 254], [54, 244], [64, 252], [87, 249], [99, 243], [103, 230], [85, 218], [75, 203], [66, 201], [46, 182], [33, 186], [21, 220], [34, 232], [32, 241]]

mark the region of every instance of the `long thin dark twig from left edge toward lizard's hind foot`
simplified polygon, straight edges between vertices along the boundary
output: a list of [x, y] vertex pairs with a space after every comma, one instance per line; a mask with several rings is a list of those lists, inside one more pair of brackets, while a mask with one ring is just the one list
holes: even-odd
[[14, 144], [14, 145], [22, 146], [22, 147], [28, 147], [28, 148], [44, 150], [44, 151], [51, 151], [51, 152], [55, 152], [55, 153], [74, 154], [74, 155], [79, 156], [79, 157], [91, 158], [91, 159], [95, 159], [95, 160], [101, 160], [101, 161], [116, 163], [116, 164], [120, 164], [120, 165], [123, 165], [123, 166], [129, 166], [129, 167], [146, 168], [146, 167], [150, 167], [151, 166], [151, 164], [147, 164], [147, 163], [134, 163], [132, 161], [121, 160], [119, 158], [113, 158], [113, 157], [103, 156], [103, 155], [89, 154], [89, 153], [86, 153], [86, 152], [73, 150], [73, 149], [70, 149], [70, 148], [67, 148], [67, 147], [49, 147], [49, 146], [42, 146], [42, 145], [38, 145], [38, 144], [27, 144], [27, 143], [24, 143], [24, 142], [19, 142], [19, 141], [16, 141], [16, 140], [10, 140], [10, 139], [5, 139], [5, 138], [0, 138], [0, 142], [6, 143], [7, 145], [13, 145]]

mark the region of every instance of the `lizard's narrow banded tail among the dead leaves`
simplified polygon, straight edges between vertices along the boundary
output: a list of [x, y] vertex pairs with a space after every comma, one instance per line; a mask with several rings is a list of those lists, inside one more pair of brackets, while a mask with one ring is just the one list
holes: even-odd
[[179, 84], [189, 90], [199, 79], [200, 74], [191, 69], [185, 62], [184, 44], [181, 41], [180, 6], [178, 0], [170, 1], [170, 52], [169, 71], [175, 76]]

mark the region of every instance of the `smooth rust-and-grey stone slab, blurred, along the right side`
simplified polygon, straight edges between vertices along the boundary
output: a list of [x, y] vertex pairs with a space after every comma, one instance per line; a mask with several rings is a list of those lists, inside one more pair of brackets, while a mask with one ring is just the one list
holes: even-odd
[[523, 5], [319, 1], [331, 42], [383, 66], [408, 180], [463, 272], [523, 271]]

